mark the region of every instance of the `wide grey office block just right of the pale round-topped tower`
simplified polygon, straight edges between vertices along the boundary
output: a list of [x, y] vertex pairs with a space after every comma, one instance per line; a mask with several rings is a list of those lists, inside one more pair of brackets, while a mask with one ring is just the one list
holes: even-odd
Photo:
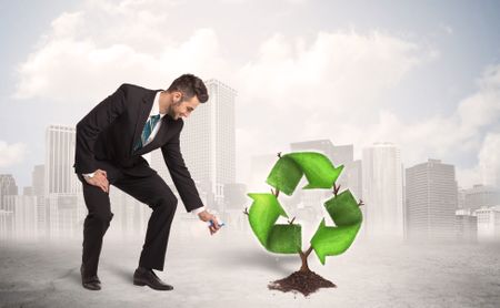
[[406, 179], [408, 238], [454, 238], [458, 208], [454, 166], [429, 160], [407, 168]]

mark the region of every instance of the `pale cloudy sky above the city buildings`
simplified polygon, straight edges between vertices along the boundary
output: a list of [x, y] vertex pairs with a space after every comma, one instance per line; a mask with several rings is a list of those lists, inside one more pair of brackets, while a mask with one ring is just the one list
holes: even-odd
[[[0, 173], [31, 183], [44, 130], [121, 83], [190, 72], [238, 92], [237, 179], [290, 142], [393, 142], [404, 167], [500, 174], [500, 2], [0, 1]], [[187, 124], [189, 119], [187, 120]], [[189, 166], [188, 166], [189, 167]]]

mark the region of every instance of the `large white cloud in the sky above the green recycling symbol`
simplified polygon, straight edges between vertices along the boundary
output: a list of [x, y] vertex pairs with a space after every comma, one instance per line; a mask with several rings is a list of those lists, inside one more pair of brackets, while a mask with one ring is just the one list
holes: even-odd
[[382, 91], [421, 61], [418, 51], [411, 42], [379, 32], [320, 32], [310, 43], [277, 33], [242, 68], [239, 90], [281, 107], [347, 111], [349, 104], [377, 103]]

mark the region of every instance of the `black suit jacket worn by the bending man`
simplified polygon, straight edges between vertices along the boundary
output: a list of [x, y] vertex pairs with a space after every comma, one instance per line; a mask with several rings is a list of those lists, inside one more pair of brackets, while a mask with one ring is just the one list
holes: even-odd
[[122, 84], [94, 106], [77, 124], [74, 172], [92, 173], [96, 160], [107, 161], [130, 176], [150, 176], [156, 173], [141, 156], [161, 147], [163, 160], [188, 212], [203, 204], [180, 152], [179, 136], [182, 119], [162, 117], [154, 138], [133, 152], [152, 109], [158, 91], [133, 84]]

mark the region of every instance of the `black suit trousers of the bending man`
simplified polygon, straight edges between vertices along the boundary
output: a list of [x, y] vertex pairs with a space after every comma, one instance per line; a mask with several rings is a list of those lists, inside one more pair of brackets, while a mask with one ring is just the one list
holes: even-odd
[[[151, 207], [146, 239], [139, 266], [163, 270], [170, 226], [178, 199], [164, 181], [153, 173], [144, 177], [131, 176], [107, 161], [97, 161], [96, 166], [107, 172], [108, 182], [139, 202]], [[93, 186], [78, 174], [83, 185], [83, 198], [88, 215], [83, 223], [82, 264], [86, 276], [97, 275], [103, 236], [113, 217], [109, 194]], [[118, 205], [120, 206], [120, 205]]]

